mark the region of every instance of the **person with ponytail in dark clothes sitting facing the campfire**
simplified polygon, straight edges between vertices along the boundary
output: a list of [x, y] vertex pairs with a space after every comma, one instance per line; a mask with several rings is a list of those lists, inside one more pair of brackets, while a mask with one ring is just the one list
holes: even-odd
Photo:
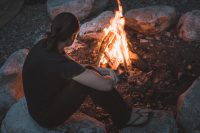
[[146, 123], [149, 111], [129, 107], [116, 91], [111, 76], [101, 73], [106, 69], [84, 67], [64, 52], [79, 29], [79, 20], [73, 14], [61, 13], [52, 21], [47, 37], [30, 50], [22, 77], [31, 117], [44, 128], [55, 128], [90, 96], [111, 115], [119, 129]]

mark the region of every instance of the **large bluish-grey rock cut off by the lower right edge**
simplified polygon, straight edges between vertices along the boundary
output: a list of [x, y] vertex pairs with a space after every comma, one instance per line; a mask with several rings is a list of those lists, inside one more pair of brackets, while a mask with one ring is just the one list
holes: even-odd
[[185, 133], [200, 133], [200, 77], [178, 100], [177, 121]]

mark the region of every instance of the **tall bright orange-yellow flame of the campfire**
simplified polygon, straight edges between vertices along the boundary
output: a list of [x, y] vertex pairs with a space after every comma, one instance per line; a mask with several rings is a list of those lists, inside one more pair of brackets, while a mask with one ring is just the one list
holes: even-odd
[[115, 40], [112, 46], [107, 46], [105, 54], [102, 55], [100, 64], [110, 64], [111, 68], [116, 70], [120, 64], [123, 64], [126, 69], [130, 69], [131, 60], [129, 57], [129, 49], [126, 38], [126, 32], [124, 30], [125, 18], [123, 17], [123, 8], [120, 0], [118, 2], [118, 10], [115, 11], [114, 18], [111, 19], [110, 25], [104, 29], [104, 37], [109, 32], [114, 33]]

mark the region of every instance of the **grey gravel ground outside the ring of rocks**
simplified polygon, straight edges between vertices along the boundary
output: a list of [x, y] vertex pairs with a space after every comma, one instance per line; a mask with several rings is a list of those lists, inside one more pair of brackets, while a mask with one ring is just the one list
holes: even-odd
[[[199, 0], [122, 0], [122, 3], [125, 11], [156, 4], [174, 6], [180, 14], [200, 9]], [[115, 7], [116, 0], [110, 0], [105, 10], [113, 10]], [[49, 25], [46, 4], [24, 5], [21, 12], [0, 29], [0, 65], [14, 51], [33, 46], [36, 38], [44, 33]]]

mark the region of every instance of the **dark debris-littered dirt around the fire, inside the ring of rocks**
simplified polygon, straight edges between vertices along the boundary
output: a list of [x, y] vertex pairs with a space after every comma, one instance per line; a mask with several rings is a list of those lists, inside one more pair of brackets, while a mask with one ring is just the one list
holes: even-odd
[[[180, 40], [175, 30], [156, 36], [140, 35], [129, 30], [127, 33], [130, 49], [137, 53], [139, 60], [132, 63], [129, 75], [119, 75], [117, 90], [132, 107], [169, 110], [176, 115], [179, 95], [200, 75], [200, 43]], [[82, 64], [95, 64], [97, 52], [89, 45], [71, 55]], [[117, 132], [109, 114], [93, 104], [90, 98], [80, 110], [105, 122], [108, 131]]]

